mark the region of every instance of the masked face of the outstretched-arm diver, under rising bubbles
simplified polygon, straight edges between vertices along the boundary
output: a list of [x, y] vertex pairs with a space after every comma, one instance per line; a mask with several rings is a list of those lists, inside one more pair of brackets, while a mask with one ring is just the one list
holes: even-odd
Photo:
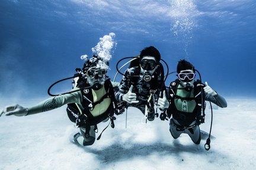
[[103, 84], [105, 81], [105, 76], [107, 74], [106, 69], [91, 67], [87, 70], [87, 81], [92, 86], [94, 83]]

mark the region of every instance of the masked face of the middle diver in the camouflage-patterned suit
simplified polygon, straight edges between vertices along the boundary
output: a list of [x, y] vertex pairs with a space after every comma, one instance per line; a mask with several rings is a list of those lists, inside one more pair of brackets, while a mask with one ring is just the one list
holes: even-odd
[[157, 67], [156, 60], [152, 56], [144, 56], [140, 61], [140, 70], [142, 73], [148, 72], [149, 74], [153, 74]]

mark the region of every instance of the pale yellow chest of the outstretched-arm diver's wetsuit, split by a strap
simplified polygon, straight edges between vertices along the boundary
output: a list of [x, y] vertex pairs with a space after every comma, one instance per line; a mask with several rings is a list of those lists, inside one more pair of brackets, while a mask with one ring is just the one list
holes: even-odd
[[[107, 91], [105, 90], [104, 86], [100, 90], [92, 89], [93, 102], [98, 102], [106, 93]], [[105, 111], [110, 106], [110, 103], [111, 103], [111, 99], [108, 97], [108, 98], [105, 98], [101, 103], [96, 104], [93, 110], [90, 109], [92, 116], [95, 117], [105, 113]]]

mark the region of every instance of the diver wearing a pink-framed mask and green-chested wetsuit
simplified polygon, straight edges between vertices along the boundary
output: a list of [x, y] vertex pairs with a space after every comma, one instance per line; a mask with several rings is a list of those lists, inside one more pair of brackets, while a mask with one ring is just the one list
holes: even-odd
[[201, 80], [195, 81], [195, 71], [197, 70], [190, 62], [178, 61], [178, 79], [172, 81], [168, 89], [170, 105], [166, 112], [160, 115], [160, 119], [171, 118], [169, 131], [174, 139], [177, 139], [181, 133], [187, 133], [191, 140], [199, 145], [201, 140], [199, 125], [204, 123], [205, 100], [222, 108], [227, 107], [227, 103], [220, 94], [208, 86], [207, 82], [204, 85]]

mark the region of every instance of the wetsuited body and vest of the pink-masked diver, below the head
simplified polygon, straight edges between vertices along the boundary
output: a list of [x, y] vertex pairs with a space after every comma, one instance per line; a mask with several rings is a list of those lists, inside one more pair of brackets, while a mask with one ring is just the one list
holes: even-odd
[[[183, 88], [181, 84], [178, 84], [178, 88]], [[196, 84], [194, 83], [194, 87]], [[181, 133], [187, 133], [192, 141], [196, 144], [200, 143], [200, 128], [196, 123], [196, 115], [199, 112], [197, 103], [195, 100], [187, 100], [190, 97], [193, 98], [197, 94], [192, 91], [186, 91], [185, 89], [170, 89], [170, 107], [167, 110], [168, 115], [172, 115], [169, 122], [169, 131], [174, 139], [177, 139]], [[176, 92], [175, 92], [176, 91]], [[201, 95], [201, 94], [199, 94]], [[212, 96], [210, 94], [204, 94], [204, 100], [215, 103], [219, 107], [226, 107], [226, 100], [219, 94]], [[180, 96], [180, 97], [177, 97]], [[185, 99], [187, 98], [187, 99]]]

